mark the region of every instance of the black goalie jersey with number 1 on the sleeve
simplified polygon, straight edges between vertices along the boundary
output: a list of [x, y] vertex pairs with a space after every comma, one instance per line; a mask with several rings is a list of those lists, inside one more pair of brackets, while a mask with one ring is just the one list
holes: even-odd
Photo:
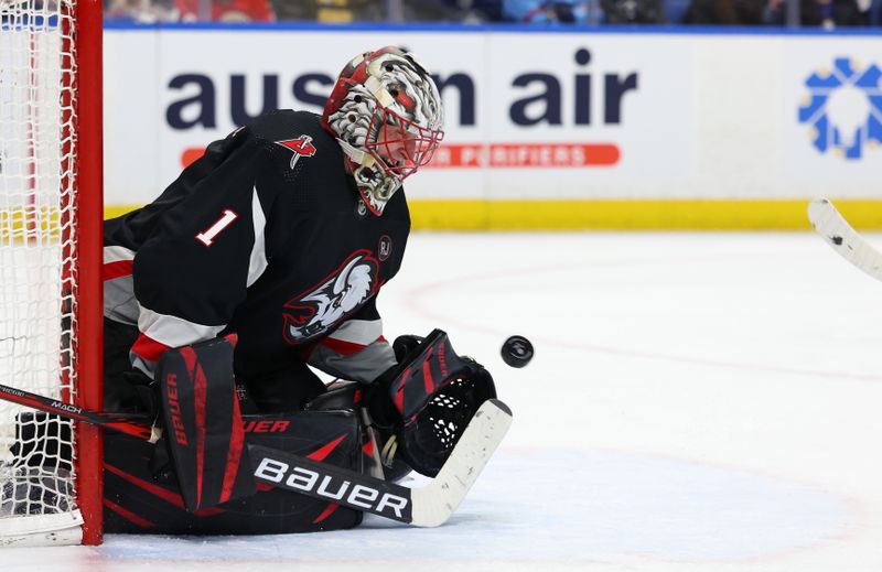
[[368, 213], [318, 115], [277, 111], [152, 204], [105, 224], [105, 316], [138, 325], [132, 365], [235, 333], [237, 378], [304, 361], [373, 380], [395, 363], [375, 306], [410, 229], [404, 192]]

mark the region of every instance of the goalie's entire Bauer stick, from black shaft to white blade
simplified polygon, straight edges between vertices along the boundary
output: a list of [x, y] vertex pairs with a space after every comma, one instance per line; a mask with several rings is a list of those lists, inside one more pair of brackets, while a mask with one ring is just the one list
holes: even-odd
[[[159, 431], [142, 415], [127, 418], [92, 411], [2, 385], [0, 399], [146, 441], [159, 439]], [[510, 425], [512, 410], [505, 403], [497, 399], [482, 403], [444, 466], [420, 488], [402, 487], [265, 446], [248, 445], [248, 450], [257, 481], [413, 526], [437, 527], [460, 506]]]

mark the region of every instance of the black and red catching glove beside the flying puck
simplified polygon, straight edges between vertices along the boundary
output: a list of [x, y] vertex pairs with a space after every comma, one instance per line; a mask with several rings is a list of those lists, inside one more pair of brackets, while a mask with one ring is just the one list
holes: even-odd
[[398, 444], [413, 471], [434, 476], [475, 411], [496, 397], [493, 377], [477, 361], [458, 356], [448, 335], [396, 339], [399, 364], [368, 388], [367, 408], [386, 444]]

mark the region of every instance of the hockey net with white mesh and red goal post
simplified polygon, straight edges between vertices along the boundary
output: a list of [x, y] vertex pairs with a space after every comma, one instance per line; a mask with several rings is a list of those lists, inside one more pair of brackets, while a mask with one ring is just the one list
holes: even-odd
[[[99, 3], [0, 0], [0, 384], [97, 408], [100, 40]], [[99, 542], [100, 451], [0, 401], [0, 546]]]

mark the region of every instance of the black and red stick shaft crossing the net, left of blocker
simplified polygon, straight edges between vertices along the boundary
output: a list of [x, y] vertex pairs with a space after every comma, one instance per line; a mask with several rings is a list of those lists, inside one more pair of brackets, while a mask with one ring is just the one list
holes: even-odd
[[39, 411], [46, 411], [47, 413], [56, 413], [68, 419], [84, 421], [92, 425], [109, 429], [118, 433], [126, 433], [127, 435], [137, 436], [144, 441], [150, 441], [151, 443], [159, 439], [158, 430], [151, 427], [150, 421], [144, 415], [125, 415], [120, 413], [93, 411], [72, 403], [65, 403], [64, 401], [51, 397], [37, 396], [36, 393], [31, 393], [23, 389], [2, 385], [0, 385], [0, 399], [30, 407]]

